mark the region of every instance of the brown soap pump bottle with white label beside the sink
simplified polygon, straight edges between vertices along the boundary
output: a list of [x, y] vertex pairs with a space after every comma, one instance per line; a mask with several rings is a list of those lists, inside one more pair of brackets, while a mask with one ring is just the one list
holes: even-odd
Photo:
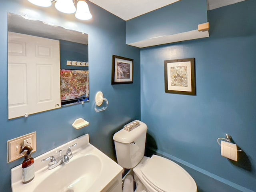
[[20, 153], [24, 152], [25, 150], [25, 160], [22, 162], [22, 182], [28, 183], [35, 177], [34, 158], [32, 158], [30, 154], [30, 152], [33, 150], [30, 145], [23, 146]]

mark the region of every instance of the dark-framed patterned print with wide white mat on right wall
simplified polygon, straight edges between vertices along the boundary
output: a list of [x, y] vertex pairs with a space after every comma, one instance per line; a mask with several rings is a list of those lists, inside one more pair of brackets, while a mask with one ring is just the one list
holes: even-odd
[[166, 93], [196, 95], [195, 58], [164, 61]]

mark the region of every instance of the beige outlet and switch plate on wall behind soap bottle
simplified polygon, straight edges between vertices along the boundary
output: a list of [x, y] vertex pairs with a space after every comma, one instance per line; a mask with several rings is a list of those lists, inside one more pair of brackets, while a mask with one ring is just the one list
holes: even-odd
[[36, 132], [7, 141], [8, 163], [24, 156], [24, 153], [20, 154], [20, 150], [24, 145], [30, 145], [33, 148], [32, 152], [36, 151]]

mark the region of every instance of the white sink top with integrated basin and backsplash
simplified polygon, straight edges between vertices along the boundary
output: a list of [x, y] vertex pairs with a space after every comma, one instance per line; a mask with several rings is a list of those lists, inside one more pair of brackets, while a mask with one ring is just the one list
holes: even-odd
[[[48, 170], [48, 162], [41, 162], [48, 156], [58, 156], [56, 152], [72, 144], [73, 158]], [[64, 144], [35, 158], [35, 178], [27, 184], [22, 183], [21, 165], [12, 169], [13, 192], [105, 192], [114, 188], [120, 192], [123, 168], [89, 143], [88, 134]]]

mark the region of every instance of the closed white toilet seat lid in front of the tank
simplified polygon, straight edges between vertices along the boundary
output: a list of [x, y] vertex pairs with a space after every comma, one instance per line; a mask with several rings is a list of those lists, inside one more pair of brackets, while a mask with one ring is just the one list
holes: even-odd
[[194, 179], [178, 164], [153, 155], [141, 168], [142, 178], [158, 192], [196, 192]]

